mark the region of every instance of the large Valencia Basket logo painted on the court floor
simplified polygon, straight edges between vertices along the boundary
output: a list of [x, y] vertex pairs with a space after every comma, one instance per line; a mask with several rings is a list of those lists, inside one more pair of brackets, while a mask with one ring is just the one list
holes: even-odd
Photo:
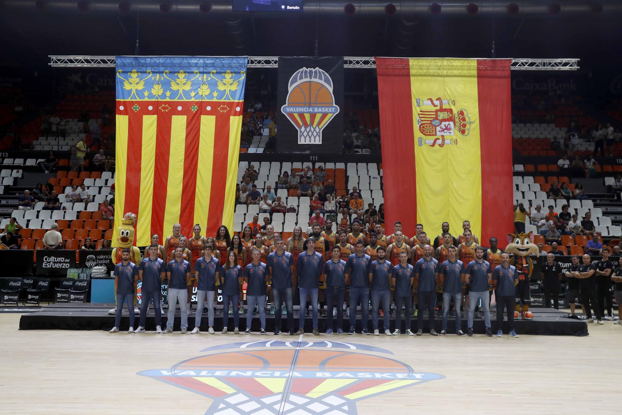
[[445, 377], [381, 356], [391, 351], [340, 341], [251, 341], [202, 351], [208, 354], [137, 374], [213, 399], [206, 414], [352, 415], [357, 401]]

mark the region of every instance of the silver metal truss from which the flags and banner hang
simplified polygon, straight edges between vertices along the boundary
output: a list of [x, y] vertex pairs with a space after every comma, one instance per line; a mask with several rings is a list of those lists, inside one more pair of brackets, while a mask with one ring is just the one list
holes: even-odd
[[[49, 65], [58, 68], [114, 68], [114, 56], [55, 56], [50, 55]], [[512, 70], [577, 70], [578, 59], [512, 59]], [[277, 68], [278, 56], [250, 56], [249, 68]], [[373, 57], [343, 58], [343, 67], [348, 69], [373, 69]]]

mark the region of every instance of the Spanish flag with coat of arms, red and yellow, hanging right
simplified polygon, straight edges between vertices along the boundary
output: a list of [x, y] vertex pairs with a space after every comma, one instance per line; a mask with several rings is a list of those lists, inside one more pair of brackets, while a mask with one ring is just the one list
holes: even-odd
[[513, 230], [509, 59], [376, 58], [385, 222], [462, 233]]

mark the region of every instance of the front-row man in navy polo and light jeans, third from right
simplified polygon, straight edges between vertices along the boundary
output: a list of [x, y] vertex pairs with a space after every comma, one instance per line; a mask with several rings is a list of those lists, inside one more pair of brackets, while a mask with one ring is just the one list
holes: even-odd
[[465, 271], [462, 261], [456, 257], [456, 247], [447, 248], [447, 257], [436, 270], [436, 280], [443, 286], [443, 327], [440, 335], [447, 334], [447, 316], [453, 298], [453, 306], [456, 310], [456, 334], [464, 336], [462, 331], [462, 317], [460, 315], [460, 303], [462, 303], [462, 274]]

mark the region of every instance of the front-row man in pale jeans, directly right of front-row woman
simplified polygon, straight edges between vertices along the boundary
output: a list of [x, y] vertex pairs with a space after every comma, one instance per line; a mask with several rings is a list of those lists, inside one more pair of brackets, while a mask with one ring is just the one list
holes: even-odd
[[[282, 239], [281, 247], [283, 244]], [[246, 330], [244, 333], [251, 333], [251, 323], [253, 322], [253, 310], [255, 304], [259, 310], [259, 322], [261, 328], [259, 334], [266, 334], [266, 284], [270, 278], [267, 265], [261, 262], [261, 253], [259, 249], [253, 249], [251, 253], [253, 262], [244, 268], [244, 282], [246, 282], [246, 303], [248, 311], [246, 312]], [[285, 257], [281, 257], [285, 260]]]

